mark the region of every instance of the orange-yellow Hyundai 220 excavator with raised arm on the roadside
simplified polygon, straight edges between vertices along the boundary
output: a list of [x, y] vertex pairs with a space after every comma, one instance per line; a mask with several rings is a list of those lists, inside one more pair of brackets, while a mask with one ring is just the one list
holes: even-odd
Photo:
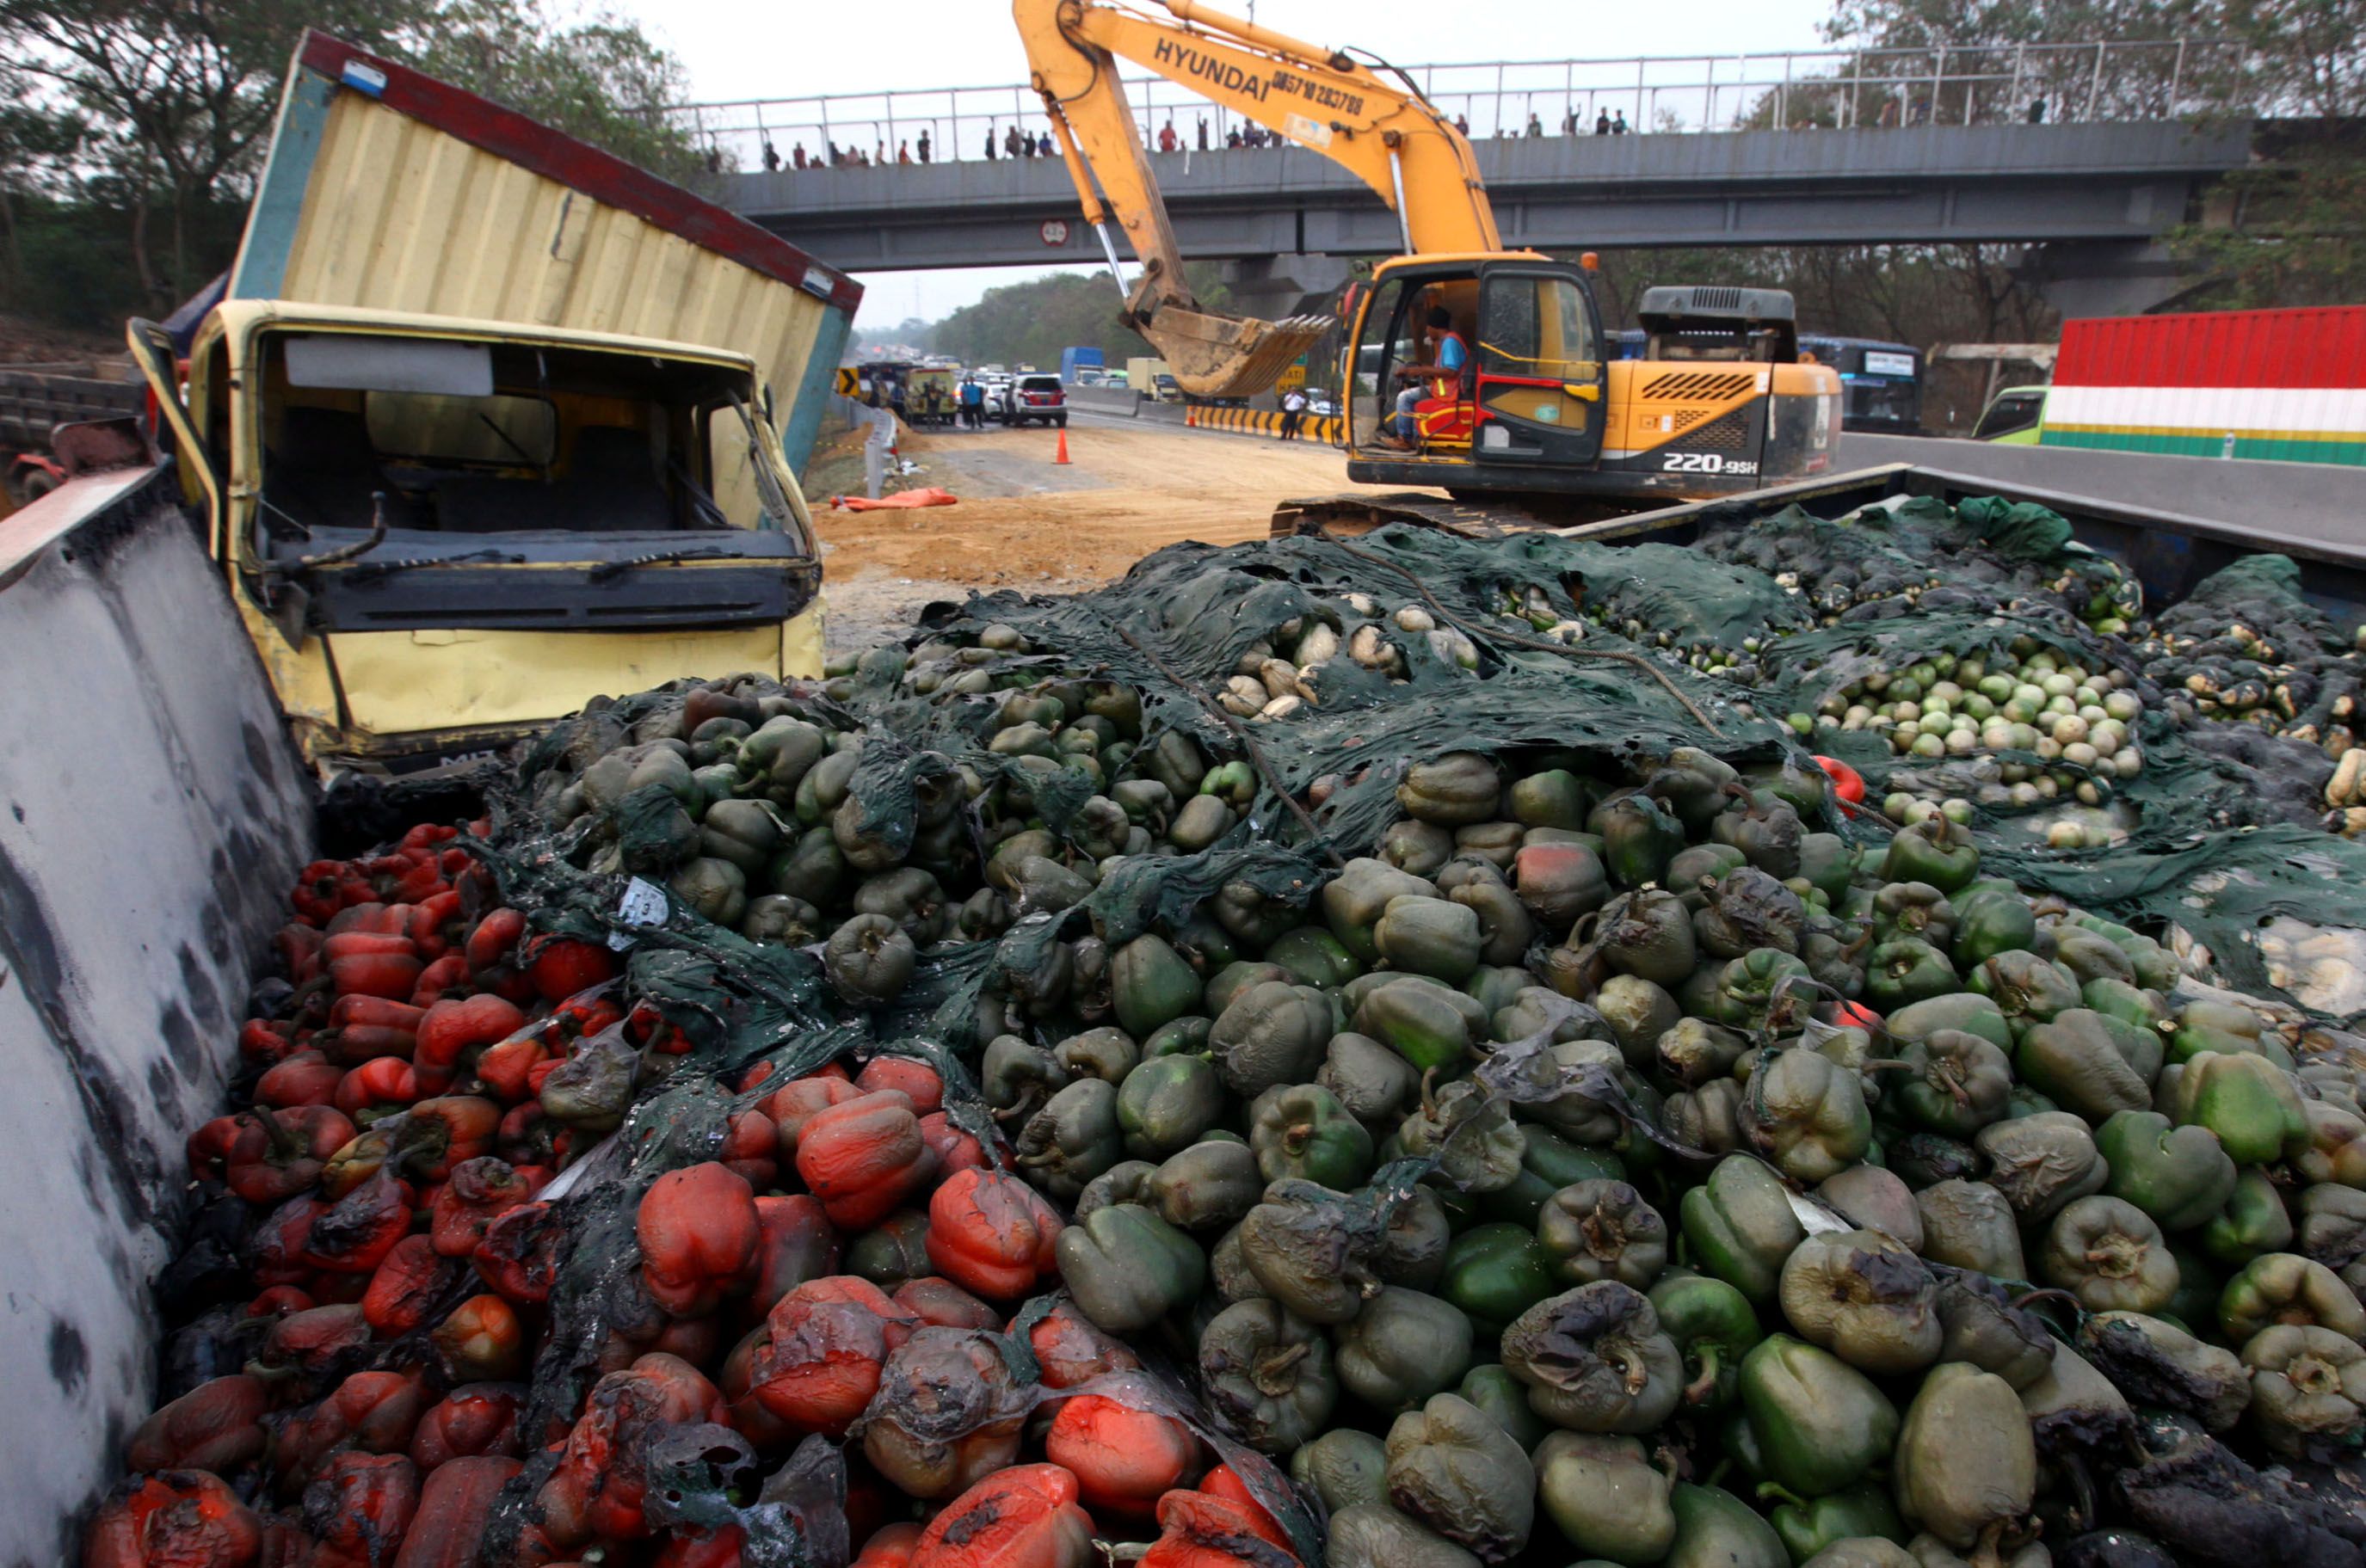
[[[1841, 378], [1803, 359], [1782, 289], [1647, 289], [1644, 357], [1616, 359], [1592, 255], [1505, 251], [1469, 142], [1386, 61], [1289, 38], [1197, 0], [1166, 17], [1110, 0], [1013, 0], [1034, 90], [1110, 270], [1124, 319], [1185, 395], [1247, 397], [1332, 324], [1209, 312], [1183, 277], [1117, 61], [1349, 168], [1396, 213], [1403, 253], [1349, 293], [1339, 367], [1346, 468], [1422, 497], [1294, 501], [1275, 527], [1420, 518], [1457, 530], [1583, 523], [1831, 468]], [[1126, 286], [1112, 227], [1140, 274]]]

